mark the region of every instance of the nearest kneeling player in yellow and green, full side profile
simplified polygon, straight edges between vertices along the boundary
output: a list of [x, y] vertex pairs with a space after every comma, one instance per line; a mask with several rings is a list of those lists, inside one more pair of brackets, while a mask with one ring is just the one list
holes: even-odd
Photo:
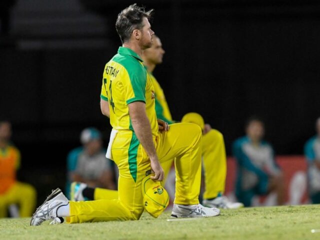
[[151, 12], [132, 4], [118, 14], [115, 26], [122, 46], [103, 71], [100, 108], [112, 126], [109, 153], [119, 168], [118, 198], [69, 201], [57, 188], [34, 212], [30, 225], [48, 219], [62, 222], [62, 217], [69, 223], [137, 220], [144, 211], [144, 177], [150, 175], [151, 180], [162, 181], [160, 163], [171, 159], [176, 166], [171, 217], [220, 214], [219, 209], [204, 207], [198, 200], [201, 128], [193, 123], [168, 127], [163, 120], [157, 120], [154, 87], [140, 57], [152, 43], [154, 32], [148, 21]]

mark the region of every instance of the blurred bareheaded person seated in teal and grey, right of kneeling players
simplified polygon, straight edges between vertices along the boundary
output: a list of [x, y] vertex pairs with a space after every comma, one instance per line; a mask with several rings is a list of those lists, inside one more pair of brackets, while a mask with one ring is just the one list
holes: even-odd
[[255, 195], [277, 194], [277, 204], [284, 201], [283, 176], [274, 161], [272, 146], [262, 140], [264, 123], [258, 117], [248, 119], [246, 135], [235, 140], [232, 152], [237, 163], [235, 195], [250, 206]]

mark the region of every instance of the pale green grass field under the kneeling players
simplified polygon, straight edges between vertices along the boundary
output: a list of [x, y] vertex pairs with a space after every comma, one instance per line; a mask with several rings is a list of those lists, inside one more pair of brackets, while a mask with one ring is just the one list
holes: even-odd
[[0, 239], [320, 239], [320, 205], [222, 210], [220, 216], [182, 221], [167, 221], [169, 215], [40, 226], [29, 226], [30, 218], [3, 218]]

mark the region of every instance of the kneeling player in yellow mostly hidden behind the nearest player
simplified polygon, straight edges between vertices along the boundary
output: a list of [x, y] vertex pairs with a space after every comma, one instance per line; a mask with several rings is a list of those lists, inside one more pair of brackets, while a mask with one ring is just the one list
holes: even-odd
[[[164, 50], [161, 41], [159, 37], [154, 35], [152, 46], [143, 51], [142, 58], [154, 87], [156, 116], [168, 123], [174, 123], [164, 92], [152, 74], [155, 66], [162, 62], [163, 54]], [[218, 208], [242, 207], [242, 203], [231, 202], [223, 195], [226, 177], [226, 155], [222, 133], [216, 129], [212, 129], [209, 124], [205, 124], [202, 116], [195, 112], [185, 114], [181, 121], [195, 123], [202, 129], [201, 149], [205, 174], [203, 204]], [[161, 164], [165, 176], [168, 175], [172, 163], [173, 159]], [[73, 183], [71, 191], [75, 200], [84, 200], [84, 197], [89, 199], [104, 199], [111, 194], [109, 190], [103, 188], [93, 189], [80, 182]]]

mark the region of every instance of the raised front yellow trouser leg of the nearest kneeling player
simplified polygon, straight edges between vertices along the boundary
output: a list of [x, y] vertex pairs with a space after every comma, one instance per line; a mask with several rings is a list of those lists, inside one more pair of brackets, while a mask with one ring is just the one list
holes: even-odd
[[193, 123], [171, 124], [156, 138], [161, 164], [174, 158], [176, 204], [197, 204], [201, 180], [201, 129]]

